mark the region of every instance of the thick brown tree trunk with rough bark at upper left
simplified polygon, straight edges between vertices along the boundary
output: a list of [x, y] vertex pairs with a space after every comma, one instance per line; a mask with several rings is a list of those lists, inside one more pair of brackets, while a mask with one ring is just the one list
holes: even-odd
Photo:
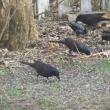
[[0, 0], [0, 40], [9, 50], [24, 49], [37, 40], [31, 0]]

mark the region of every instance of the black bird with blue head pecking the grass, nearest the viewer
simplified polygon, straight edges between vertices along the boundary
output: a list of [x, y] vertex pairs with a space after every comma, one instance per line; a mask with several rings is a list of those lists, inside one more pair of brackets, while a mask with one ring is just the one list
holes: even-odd
[[49, 64], [45, 64], [38, 60], [34, 61], [34, 63], [28, 63], [28, 62], [24, 62], [24, 61], [21, 61], [21, 63], [33, 67], [38, 73], [37, 78], [39, 75], [46, 77], [47, 79], [48, 79], [48, 77], [56, 76], [58, 78], [58, 80], [60, 80], [59, 71], [55, 67], [52, 67]]

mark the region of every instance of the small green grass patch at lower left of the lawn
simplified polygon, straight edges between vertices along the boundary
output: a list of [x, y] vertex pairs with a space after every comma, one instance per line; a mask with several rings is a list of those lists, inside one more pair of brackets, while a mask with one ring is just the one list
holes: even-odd
[[6, 91], [8, 96], [22, 96], [22, 91], [21, 89], [19, 89], [16, 86], [12, 86], [10, 87], [7, 91]]

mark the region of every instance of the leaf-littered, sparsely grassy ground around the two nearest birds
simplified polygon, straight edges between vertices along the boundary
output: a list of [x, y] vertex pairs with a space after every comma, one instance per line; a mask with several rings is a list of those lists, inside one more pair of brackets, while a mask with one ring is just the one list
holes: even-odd
[[[109, 56], [87, 57], [78, 53], [72, 56], [65, 46], [52, 47], [48, 43], [72, 37], [90, 46], [94, 54], [109, 49], [109, 45], [102, 43], [100, 31], [76, 36], [65, 23], [39, 26], [40, 39], [35, 47], [7, 54], [1, 51], [0, 110], [110, 110]], [[37, 80], [36, 71], [19, 62], [33, 59], [55, 66], [61, 81], [41, 76]]]

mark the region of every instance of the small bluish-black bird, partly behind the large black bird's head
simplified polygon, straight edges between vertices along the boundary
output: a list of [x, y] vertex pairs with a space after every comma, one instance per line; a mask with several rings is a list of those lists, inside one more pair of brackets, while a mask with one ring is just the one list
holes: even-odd
[[87, 33], [86, 28], [82, 24], [69, 22], [68, 25], [73, 29], [74, 32], [76, 32], [77, 35]]

